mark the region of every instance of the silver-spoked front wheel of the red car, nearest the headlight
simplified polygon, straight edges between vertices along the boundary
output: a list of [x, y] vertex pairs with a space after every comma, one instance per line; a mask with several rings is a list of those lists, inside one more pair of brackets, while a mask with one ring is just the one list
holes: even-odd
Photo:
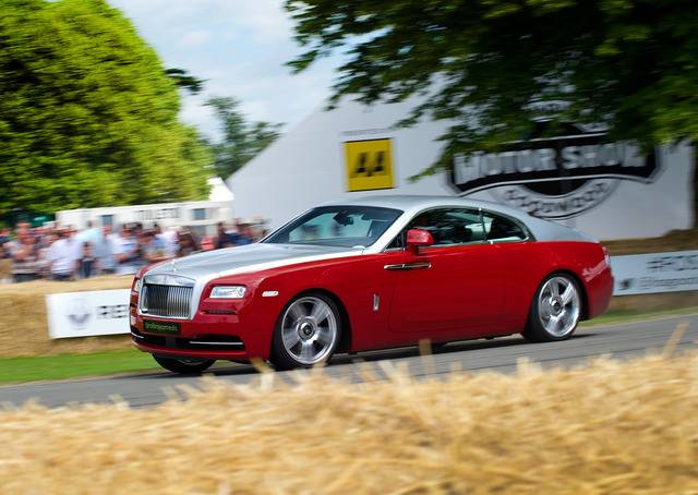
[[327, 362], [341, 338], [341, 326], [337, 304], [327, 295], [311, 292], [293, 298], [276, 321], [272, 363], [280, 371]]

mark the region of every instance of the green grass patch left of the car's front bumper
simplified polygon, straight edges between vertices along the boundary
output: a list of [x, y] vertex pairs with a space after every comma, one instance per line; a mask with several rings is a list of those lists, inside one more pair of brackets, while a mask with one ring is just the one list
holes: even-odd
[[0, 359], [0, 383], [65, 379], [159, 369], [151, 354], [135, 349], [89, 354]]

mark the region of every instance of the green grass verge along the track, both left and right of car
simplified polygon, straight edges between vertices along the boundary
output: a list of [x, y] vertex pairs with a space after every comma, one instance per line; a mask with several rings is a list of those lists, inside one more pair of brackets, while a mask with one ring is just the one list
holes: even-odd
[[[591, 322], [585, 322], [580, 326], [586, 328], [689, 313], [698, 313], [698, 306], [651, 313], [633, 310], [614, 311]], [[104, 376], [148, 370], [160, 370], [160, 367], [149, 354], [135, 349], [86, 354], [1, 358], [0, 384]]]

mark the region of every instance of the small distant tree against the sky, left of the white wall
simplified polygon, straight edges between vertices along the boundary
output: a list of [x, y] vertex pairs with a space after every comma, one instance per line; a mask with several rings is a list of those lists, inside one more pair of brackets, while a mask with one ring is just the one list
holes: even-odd
[[206, 105], [214, 108], [222, 131], [222, 141], [213, 145], [219, 177], [232, 174], [279, 136], [282, 124], [249, 122], [236, 98], [210, 98]]

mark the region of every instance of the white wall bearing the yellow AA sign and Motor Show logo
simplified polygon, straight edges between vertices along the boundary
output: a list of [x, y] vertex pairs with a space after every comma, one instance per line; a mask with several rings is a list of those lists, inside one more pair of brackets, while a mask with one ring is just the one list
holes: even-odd
[[274, 229], [318, 204], [389, 194], [491, 201], [600, 240], [652, 238], [693, 226], [694, 147], [642, 149], [598, 126], [539, 122], [496, 153], [440, 164], [452, 124], [396, 126], [419, 98], [365, 106], [350, 98], [317, 110], [228, 178], [239, 217]]

